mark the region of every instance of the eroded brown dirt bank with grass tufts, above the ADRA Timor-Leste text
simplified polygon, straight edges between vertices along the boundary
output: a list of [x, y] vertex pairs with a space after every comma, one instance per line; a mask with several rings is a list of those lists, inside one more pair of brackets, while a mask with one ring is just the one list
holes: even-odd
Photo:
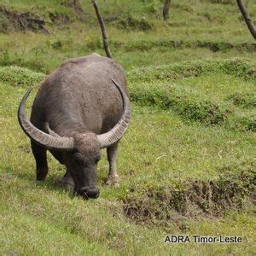
[[172, 187], [148, 188], [139, 197], [131, 189], [123, 211], [137, 224], [168, 227], [176, 223], [184, 229], [188, 218], [221, 218], [226, 210], [245, 207], [246, 199], [253, 198], [254, 184], [255, 172], [251, 170], [238, 177], [226, 173], [212, 181], [190, 180]]

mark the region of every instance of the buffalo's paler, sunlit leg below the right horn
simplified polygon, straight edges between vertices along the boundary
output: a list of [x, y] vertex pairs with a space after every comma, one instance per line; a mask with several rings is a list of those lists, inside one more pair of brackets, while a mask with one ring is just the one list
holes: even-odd
[[113, 145], [107, 148], [108, 164], [109, 164], [107, 185], [115, 185], [115, 186], [119, 185], [119, 176], [116, 172], [117, 151], [118, 151], [118, 143], [114, 143]]

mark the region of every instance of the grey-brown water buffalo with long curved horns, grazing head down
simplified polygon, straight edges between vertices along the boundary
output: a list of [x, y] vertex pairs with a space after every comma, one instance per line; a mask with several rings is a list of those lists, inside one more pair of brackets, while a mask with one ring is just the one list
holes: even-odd
[[131, 121], [122, 67], [97, 54], [65, 61], [41, 84], [29, 121], [25, 105], [30, 91], [20, 102], [18, 119], [31, 138], [37, 179], [47, 176], [49, 149], [67, 167], [63, 181], [74, 183], [74, 193], [97, 198], [96, 166], [101, 160], [101, 148], [107, 148], [107, 183], [119, 183], [117, 148]]

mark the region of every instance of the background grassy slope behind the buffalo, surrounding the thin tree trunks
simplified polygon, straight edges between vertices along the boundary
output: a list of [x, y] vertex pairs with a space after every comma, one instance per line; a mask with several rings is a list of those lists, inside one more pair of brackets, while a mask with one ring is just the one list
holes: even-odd
[[[30, 1], [8, 1], [8, 6], [13, 9], [29, 9], [40, 14], [45, 20], [49, 20], [49, 12], [64, 12], [71, 19], [78, 15], [72, 9], [60, 6], [59, 1], [37, 1], [33, 5]], [[112, 4], [110, 4], [110, 2]], [[247, 31], [247, 27], [241, 15], [237, 11], [236, 4], [212, 4], [208, 1], [180, 1], [173, 3], [171, 21], [163, 24], [160, 15], [158, 1], [148, 1], [145, 4], [133, 0], [131, 5], [126, 1], [99, 1], [105, 17], [118, 17], [116, 21], [108, 24], [108, 33], [111, 39], [111, 49], [117, 60], [125, 67], [137, 67], [145, 65], [170, 64], [176, 61], [195, 59], [215, 59], [219, 57], [231, 57], [240, 55], [241, 49], [236, 45], [249, 44], [254, 48], [244, 50], [242, 56], [256, 57], [255, 43]], [[151, 9], [149, 3], [155, 3]], [[252, 1], [253, 2], [253, 1]], [[1, 3], [1, 2], [0, 2]], [[5, 2], [2, 1], [4, 4]], [[83, 23], [75, 21], [58, 27], [47, 23], [51, 35], [30, 34], [0, 35], [0, 63], [31, 67], [33, 69], [49, 72], [58, 67], [68, 57], [87, 55], [97, 51], [104, 55], [101, 49], [101, 36], [96, 23], [96, 17], [92, 12], [90, 1], [82, 1], [86, 18]], [[255, 16], [256, 9], [252, 3], [249, 5], [251, 13]], [[136, 19], [151, 22], [152, 30], [118, 29], [116, 23], [127, 15]], [[212, 16], [212, 17], [209, 17]], [[137, 21], [138, 22], [138, 21]], [[136, 23], [137, 24], [137, 23]], [[199, 26], [200, 24], [200, 26]], [[97, 29], [95, 29], [95, 27]], [[75, 38], [75, 40], [73, 39]], [[165, 46], [166, 42], [189, 42], [193, 49], [176, 44], [172, 47]], [[158, 43], [159, 42], [159, 43]], [[198, 42], [220, 44], [219, 50], [212, 51], [209, 47], [198, 47]], [[153, 44], [150, 46], [150, 44]], [[232, 44], [233, 49], [227, 49], [222, 44]], [[164, 45], [164, 46], [163, 46]], [[168, 45], [168, 44], [167, 44]], [[55, 55], [52, 59], [51, 56]], [[51, 61], [49, 61], [49, 58]]]

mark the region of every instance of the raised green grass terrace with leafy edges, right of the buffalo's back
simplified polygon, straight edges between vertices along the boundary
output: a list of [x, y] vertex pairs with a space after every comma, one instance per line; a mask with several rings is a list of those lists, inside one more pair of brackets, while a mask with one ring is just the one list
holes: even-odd
[[183, 119], [205, 125], [255, 131], [253, 65], [227, 64], [201, 61], [136, 69], [129, 73], [131, 99], [143, 106], [171, 109]]

